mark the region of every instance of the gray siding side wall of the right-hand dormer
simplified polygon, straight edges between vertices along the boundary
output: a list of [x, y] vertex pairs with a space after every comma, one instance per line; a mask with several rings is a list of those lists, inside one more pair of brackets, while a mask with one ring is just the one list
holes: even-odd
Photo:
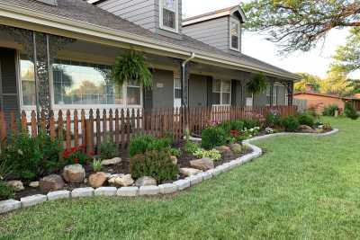
[[229, 49], [229, 16], [183, 27], [183, 33], [212, 47]]

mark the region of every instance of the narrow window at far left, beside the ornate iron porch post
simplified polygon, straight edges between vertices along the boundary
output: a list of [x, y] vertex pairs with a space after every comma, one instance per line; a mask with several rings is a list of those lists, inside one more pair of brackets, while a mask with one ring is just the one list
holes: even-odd
[[22, 80], [23, 105], [36, 105], [35, 74], [33, 63], [25, 57], [20, 60], [20, 75]]

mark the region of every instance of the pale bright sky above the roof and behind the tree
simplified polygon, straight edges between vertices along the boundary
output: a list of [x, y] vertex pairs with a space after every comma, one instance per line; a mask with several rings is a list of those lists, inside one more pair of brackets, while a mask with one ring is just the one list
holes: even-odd
[[[239, 0], [183, 0], [183, 14], [185, 17], [192, 17], [239, 3]], [[265, 36], [258, 32], [243, 32], [242, 52], [293, 73], [306, 72], [325, 77], [329, 70], [331, 56], [339, 45], [345, 43], [346, 37], [347, 30], [333, 30], [329, 32], [325, 43], [320, 43], [317, 49], [305, 53], [295, 52], [282, 57], [278, 55], [276, 45], [265, 40]], [[360, 77], [360, 74], [356, 76]]]

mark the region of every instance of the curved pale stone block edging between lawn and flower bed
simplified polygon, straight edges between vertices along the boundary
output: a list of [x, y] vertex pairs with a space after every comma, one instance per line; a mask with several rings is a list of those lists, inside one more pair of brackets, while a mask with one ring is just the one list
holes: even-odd
[[[313, 137], [326, 137], [333, 134], [338, 133], [338, 129], [333, 129], [326, 133], [291, 133], [291, 132], [282, 132], [269, 134], [265, 136], [259, 136], [255, 138], [250, 138], [243, 141], [243, 144], [247, 147], [250, 147], [253, 152], [246, 155], [241, 156], [235, 160], [230, 161], [229, 163], [219, 165], [214, 169], [208, 170], [206, 172], [197, 173], [191, 177], [187, 177], [185, 179], [181, 179], [175, 181], [173, 183], [166, 183], [159, 186], [143, 186], [143, 187], [103, 187], [97, 190], [93, 188], [80, 188], [75, 189], [73, 191], [52, 191], [47, 195], [33, 195], [26, 198], [22, 198], [22, 200], [2, 200], [0, 201], [0, 214], [4, 214], [6, 212], [13, 211], [15, 209], [22, 209], [31, 206], [35, 206], [45, 201], [50, 200], [59, 200], [59, 199], [77, 199], [77, 198], [85, 198], [85, 197], [93, 197], [93, 196], [107, 196], [107, 197], [137, 197], [137, 196], [154, 196], [158, 194], [171, 194], [177, 191], [184, 191], [193, 185], [199, 184], [200, 182], [206, 181], [219, 175], [220, 173], [228, 172], [234, 167], [242, 164], [246, 164], [247, 162], [262, 156], [263, 151], [260, 147], [252, 145], [251, 142], [262, 140], [266, 138], [274, 138], [280, 136], [289, 136], [289, 135], [300, 135], [300, 136], [313, 136]], [[191, 138], [193, 141], [201, 141], [201, 138]]]

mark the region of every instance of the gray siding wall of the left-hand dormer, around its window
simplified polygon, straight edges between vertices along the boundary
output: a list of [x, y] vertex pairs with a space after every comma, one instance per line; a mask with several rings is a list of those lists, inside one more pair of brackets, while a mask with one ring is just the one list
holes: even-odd
[[178, 33], [182, 32], [182, 0], [178, 0], [178, 33], [160, 29], [159, 3], [159, 0], [107, 0], [97, 6], [149, 31], [167, 37], [181, 38]]

